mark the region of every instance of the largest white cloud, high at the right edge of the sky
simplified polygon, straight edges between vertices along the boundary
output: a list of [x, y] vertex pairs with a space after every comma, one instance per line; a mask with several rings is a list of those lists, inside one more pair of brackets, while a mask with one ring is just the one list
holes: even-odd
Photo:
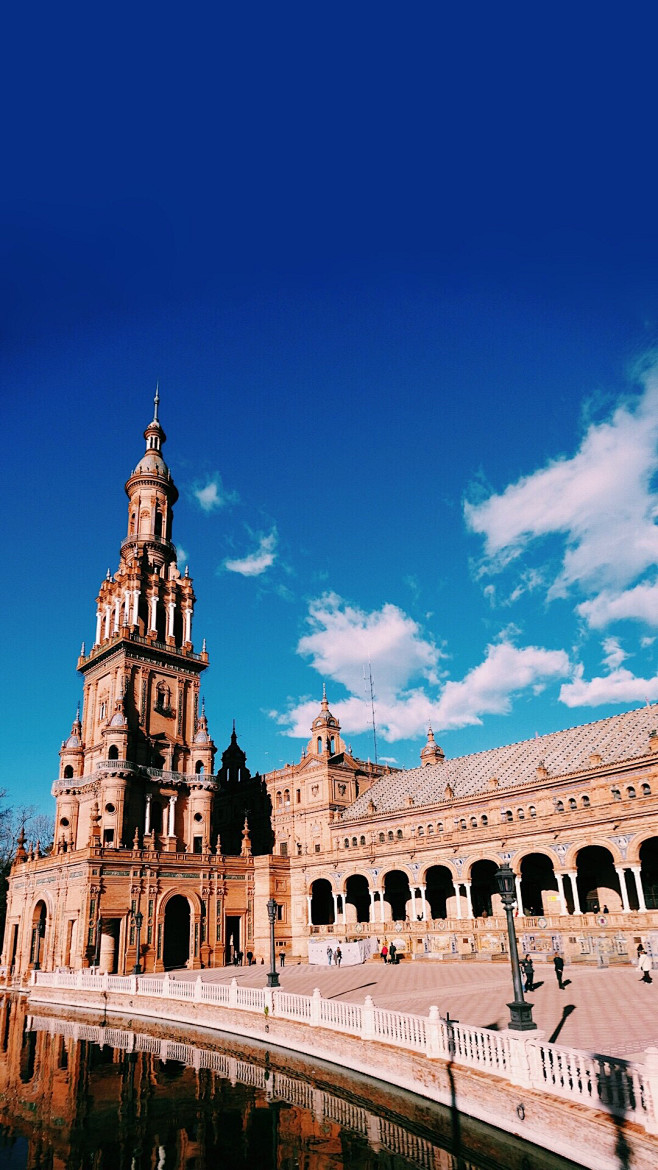
[[488, 571], [499, 571], [532, 541], [558, 534], [566, 548], [549, 597], [578, 584], [619, 591], [658, 559], [658, 373], [644, 393], [592, 424], [571, 459], [556, 459], [480, 504], [465, 503], [469, 528], [485, 537]]

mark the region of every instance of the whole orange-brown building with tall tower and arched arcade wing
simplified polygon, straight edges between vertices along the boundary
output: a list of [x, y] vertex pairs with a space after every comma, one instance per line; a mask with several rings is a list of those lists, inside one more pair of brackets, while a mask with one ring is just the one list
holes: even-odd
[[299, 763], [252, 776], [233, 728], [215, 771], [157, 395], [144, 436], [118, 567], [77, 663], [54, 847], [19, 841], [5, 968], [267, 957], [268, 899], [289, 958], [304, 961], [309, 940], [365, 937], [414, 957], [502, 957], [503, 861], [525, 950], [623, 962], [642, 941], [658, 954], [656, 708], [457, 759], [430, 730], [403, 772], [357, 759], [323, 694]]

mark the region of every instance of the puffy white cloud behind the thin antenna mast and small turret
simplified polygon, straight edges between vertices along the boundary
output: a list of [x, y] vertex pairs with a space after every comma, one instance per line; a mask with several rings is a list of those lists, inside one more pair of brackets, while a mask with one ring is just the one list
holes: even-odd
[[[375, 681], [377, 734], [388, 742], [480, 723], [486, 714], [510, 710], [512, 696], [541, 691], [570, 674], [564, 651], [536, 646], [519, 649], [509, 640], [489, 646], [485, 661], [460, 682], [439, 677], [441, 651], [423, 636], [416, 621], [395, 605], [365, 613], [327, 594], [309, 607], [311, 626], [299, 642], [323, 679], [333, 679], [349, 697], [331, 702], [345, 735], [370, 730], [371, 707], [363, 670], [370, 658]], [[413, 684], [414, 680], [419, 680]], [[274, 714], [288, 735], [307, 737], [317, 700], [290, 703]]]

